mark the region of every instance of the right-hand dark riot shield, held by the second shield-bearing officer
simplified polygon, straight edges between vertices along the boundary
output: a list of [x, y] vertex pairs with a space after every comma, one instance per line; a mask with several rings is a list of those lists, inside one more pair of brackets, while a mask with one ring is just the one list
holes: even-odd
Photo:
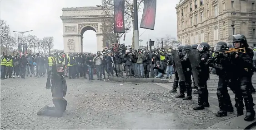
[[187, 50], [187, 55], [191, 63], [192, 75], [193, 75], [195, 85], [196, 87], [199, 87], [198, 69], [197, 69], [197, 67], [199, 67], [199, 64], [200, 64], [199, 51], [197, 49]]

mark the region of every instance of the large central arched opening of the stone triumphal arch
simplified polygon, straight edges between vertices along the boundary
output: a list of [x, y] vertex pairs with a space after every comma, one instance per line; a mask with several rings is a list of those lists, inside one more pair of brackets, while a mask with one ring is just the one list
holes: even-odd
[[95, 28], [91, 26], [85, 26], [80, 30], [83, 52], [97, 52], [96, 32]]

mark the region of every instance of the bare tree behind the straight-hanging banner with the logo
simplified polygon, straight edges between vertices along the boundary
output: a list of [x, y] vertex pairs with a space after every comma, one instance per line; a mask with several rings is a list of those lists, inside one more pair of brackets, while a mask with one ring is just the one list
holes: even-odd
[[[143, 3], [143, 1], [144, 0], [140, 0], [138, 2], [138, 10], [140, 10], [140, 5], [141, 5], [141, 3]], [[103, 15], [109, 16], [109, 14], [106, 13], [106, 10], [109, 11], [109, 9], [113, 9], [113, 7], [114, 7], [114, 0], [102, 0], [102, 6], [101, 7], [103, 8]], [[110, 14], [110, 16], [113, 17], [113, 12], [112, 12], [112, 14]], [[112, 25], [111, 26], [112, 28], [110, 29], [110, 32], [113, 33], [114, 32], [114, 19], [112, 18], [112, 21], [111, 20], [106, 20], [106, 21], [108, 21], [108, 22], [106, 22], [107, 25]], [[134, 48], [134, 9], [133, 9], [133, 0], [125, 0], [125, 32], [128, 32], [130, 30], [131, 27], [129, 27], [129, 26], [133, 27], [133, 30], [132, 30], [133, 31], [132, 47]], [[106, 27], [106, 28], [108, 28], [108, 27]], [[123, 34], [117, 34], [117, 36], [119, 36], [119, 38], [122, 35]], [[116, 38], [115, 34], [112, 34], [111, 36], [114, 37], [112, 39]]]

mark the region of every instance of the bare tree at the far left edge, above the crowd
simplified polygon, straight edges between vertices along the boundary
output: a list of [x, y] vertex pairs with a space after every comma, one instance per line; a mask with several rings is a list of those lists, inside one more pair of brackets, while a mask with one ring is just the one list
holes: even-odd
[[8, 40], [10, 38], [10, 28], [9, 25], [7, 25], [5, 20], [1, 20], [1, 34], [0, 34], [0, 40], [1, 44]]

